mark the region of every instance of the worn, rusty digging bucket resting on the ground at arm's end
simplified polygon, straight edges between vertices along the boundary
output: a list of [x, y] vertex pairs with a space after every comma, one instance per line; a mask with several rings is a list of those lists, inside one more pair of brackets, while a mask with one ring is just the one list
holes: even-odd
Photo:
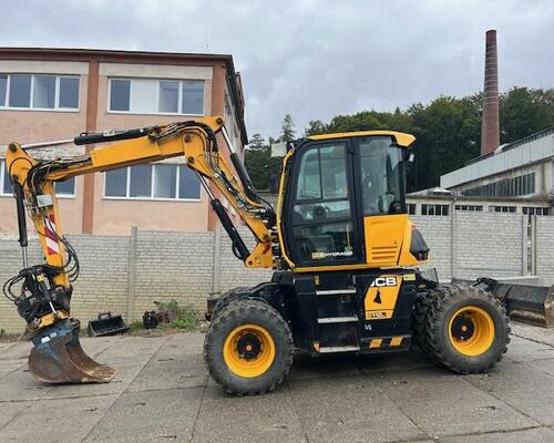
[[33, 337], [29, 369], [47, 383], [107, 383], [115, 370], [92, 360], [79, 342], [79, 320], [66, 319]]

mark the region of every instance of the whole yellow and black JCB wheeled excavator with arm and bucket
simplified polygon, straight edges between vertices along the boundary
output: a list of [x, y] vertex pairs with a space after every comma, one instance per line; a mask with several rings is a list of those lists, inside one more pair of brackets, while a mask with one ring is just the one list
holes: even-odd
[[[417, 266], [429, 248], [411, 224], [406, 163], [414, 137], [392, 131], [309, 136], [289, 144], [276, 209], [260, 198], [233, 154], [220, 117], [140, 130], [83, 133], [101, 144], [83, 156], [39, 161], [18, 143], [7, 153], [17, 200], [22, 269], [4, 285], [34, 343], [31, 372], [47, 382], [106, 382], [115, 371], [91, 360], [70, 317], [75, 250], [63, 235], [55, 182], [183, 155], [248, 268], [271, 281], [208, 301], [204, 357], [213, 378], [236, 394], [264, 393], [289, 372], [295, 351], [391, 352], [414, 341], [458, 373], [489, 371], [506, 351], [507, 317], [483, 289], [441, 286]], [[255, 237], [250, 250], [219, 198]], [[45, 262], [29, 266], [25, 208]], [[186, 289], [184, 288], [186, 291]]]

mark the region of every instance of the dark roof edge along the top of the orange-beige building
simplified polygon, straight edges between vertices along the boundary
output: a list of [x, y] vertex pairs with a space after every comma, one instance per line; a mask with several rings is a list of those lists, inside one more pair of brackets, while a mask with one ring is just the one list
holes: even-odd
[[[213, 64], [225, 63], [227, 69], [227, 84], [233, 101], [236, 103], [235, 117], [240, 128], [240, 138], [248, 144], [248, 134], [244, 121], [244, 100], [242, 96], [243, 85], [238, 73], [235, 71], [233, 55], [230, 54], [206, 54], [193, 52], [153, 52], [153, 51], [123, 51], [110, 49], [83, 49], [83, 48], [0, 48], [0, 60], [55, 60], [55, 61], [82, 61], [96, 60], [99, 62], [112, 63], [144, 63], [151, 64]], [[238, 80], [237, 80], [238, 79]], [[237, 84], [240, 83], [240, 84]]]

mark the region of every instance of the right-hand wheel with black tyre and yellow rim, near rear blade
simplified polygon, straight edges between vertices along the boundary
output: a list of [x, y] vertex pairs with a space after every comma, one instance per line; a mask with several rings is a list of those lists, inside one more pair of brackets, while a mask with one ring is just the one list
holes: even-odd
[[461, 374], [489, 372], [510, 342], [504, 307], [473, 286], [432, 289], [416, 301], [413, 322], [423, 353]]

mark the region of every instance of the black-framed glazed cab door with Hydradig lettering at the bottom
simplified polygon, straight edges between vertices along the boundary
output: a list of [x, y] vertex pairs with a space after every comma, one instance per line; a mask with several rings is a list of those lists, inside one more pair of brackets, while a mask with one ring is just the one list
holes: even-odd
[[363, 262], [348, 138], [308, 142], [294, 157], [284, 225], [296, 267]]

